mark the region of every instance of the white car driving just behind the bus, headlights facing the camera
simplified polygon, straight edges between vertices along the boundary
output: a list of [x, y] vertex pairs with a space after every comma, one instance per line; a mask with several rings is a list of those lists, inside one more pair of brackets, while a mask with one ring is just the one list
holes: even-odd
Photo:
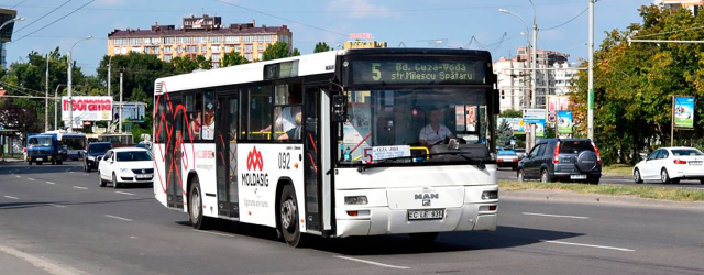
[[111, 148], [98, 163], [100, 187], [107, 182], [120, 188], [124, 184], [152, 184], [154, 162], [152, 152], [138, 147]]

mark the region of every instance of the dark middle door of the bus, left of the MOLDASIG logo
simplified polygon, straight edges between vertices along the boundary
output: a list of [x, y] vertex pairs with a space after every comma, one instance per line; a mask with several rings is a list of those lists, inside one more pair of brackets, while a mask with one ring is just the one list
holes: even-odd
[[240, 218], [237, 177], [239, 107], [237, 94], [218, 97], [216, 109], [218, 215], [230, 218]]

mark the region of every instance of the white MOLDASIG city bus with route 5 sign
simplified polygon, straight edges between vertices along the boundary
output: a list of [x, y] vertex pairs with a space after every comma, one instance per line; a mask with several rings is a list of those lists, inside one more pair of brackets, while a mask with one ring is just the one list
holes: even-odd
[[309, 234], [493, 231], [495, 86], [488, 52], [427, 48], [160, 78], [154, 194], [197, 229], [262, 224], [293, 246]]

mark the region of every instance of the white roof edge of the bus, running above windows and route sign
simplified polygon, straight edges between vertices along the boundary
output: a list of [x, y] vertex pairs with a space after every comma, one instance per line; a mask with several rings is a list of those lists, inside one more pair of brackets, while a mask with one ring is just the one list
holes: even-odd
[[[462, 50], [462, 48], [356, 48], [356, 50], [339, 50], [316, 54], [307, 54], [279, 58], [266, 62], [255, 62], [238, 66], [224, 68], [216, 68], [209, 70], [197, 70], [194, 73], [182, 74], [158, 78], [155, 80], [154, 95], [162, 92], [190, 90], [207, 87], [218, 87], [226, 85], [237, 85], [245, 82], [257, 82], [264, 80], [264, 66], [270, 64], [279, 64], [285, 62], [298, 61], [297, 76], [311, 76], [334, 73], [336, 59], [340, 55], [465, 55], [476, 58], [483, 58], [491, 64], [491, 54], [487, 51]], [[490, 65], [491, 66], [491, 65]]]

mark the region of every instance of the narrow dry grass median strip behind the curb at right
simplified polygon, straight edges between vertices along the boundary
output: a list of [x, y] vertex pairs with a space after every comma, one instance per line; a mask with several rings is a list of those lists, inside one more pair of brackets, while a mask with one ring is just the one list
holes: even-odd
[[704, 190], [668, 188], [657, 186], [627, 186], [627, 185], [587, 185], [569, 183], [540, 182], [499, 182], [502, 190], [566, 190], [579, 194], [600, 194], [609, 196], [632, 196], [648, 199], [662, 199], [672, 201], [704, 201]]

